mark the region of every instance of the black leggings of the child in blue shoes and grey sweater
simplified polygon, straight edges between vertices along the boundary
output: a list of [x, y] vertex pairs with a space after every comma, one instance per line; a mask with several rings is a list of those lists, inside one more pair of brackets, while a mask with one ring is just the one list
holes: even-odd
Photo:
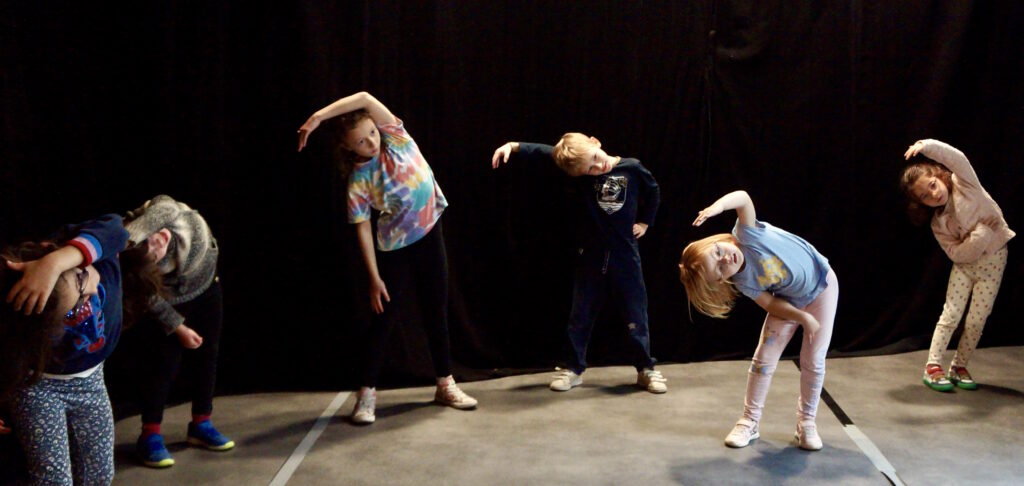
[[185, 317], [185, 325], [203, 337], [199, 349], [186, 350], [173, 333], [168, 336], [164, 326], [152, 316], [139, 322], [142, 343], [152, 350], [142, 365], [141, 392], [142, 423], [160, 424], [164, 419], [164, 406], [171, 391], [171, 384], [178, 374], [182, 354], [191, 361], [191, 412], [206, 415], [213, 411], [213, 385], [217, 378], [217, 352], [220, 347], [220, 329], [224, 321], [224, 302], [219, 278], [196, 299], [174, 306]]

